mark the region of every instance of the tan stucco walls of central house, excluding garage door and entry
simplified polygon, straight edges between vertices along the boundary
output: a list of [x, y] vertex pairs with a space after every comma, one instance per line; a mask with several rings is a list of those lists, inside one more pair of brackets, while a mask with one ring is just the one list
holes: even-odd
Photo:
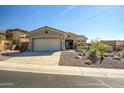
[[[65, 33], [59, 30], [51, 29], [49, 27], [42, 27], [29, 33], [28, 50], [32, 50], [32, 38], [61, 38], [61, 48], [62, 50], [65, 50], [65, 40], [73, 40], [74, 46], [78, 37], [78, 35], [71, 32]], [[85, 38], [81, 38], [81, 40], [84, 40], [84, 43], [86, 44]]]

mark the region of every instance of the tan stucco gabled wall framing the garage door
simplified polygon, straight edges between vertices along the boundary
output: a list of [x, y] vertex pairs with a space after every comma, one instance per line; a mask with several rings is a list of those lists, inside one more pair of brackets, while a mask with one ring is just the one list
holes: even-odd
[[[47, 31], [47, 33], [45, 33]], [[49, 28], [41, 28], [35, 31], [32, 31], [29, 33], [29, 45], [28, 45], [28, 50], [32, 50], [32, 43], [33, 40], [32, 38], [60, 38], [61, 39], [61, 48], [62, 50], [65, 49], [65, 34], [61, 33], [59, 31], [55, 31]]]

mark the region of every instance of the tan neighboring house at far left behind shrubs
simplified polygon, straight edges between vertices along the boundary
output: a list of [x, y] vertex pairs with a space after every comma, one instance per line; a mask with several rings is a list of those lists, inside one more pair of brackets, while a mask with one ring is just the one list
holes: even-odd
[[16, 28], [8, 29], [6, 31], [0, 30], [1, 46], [8, 44], [8, 42], [18, 45], [18, 47], [28, 48], [28, 31]]

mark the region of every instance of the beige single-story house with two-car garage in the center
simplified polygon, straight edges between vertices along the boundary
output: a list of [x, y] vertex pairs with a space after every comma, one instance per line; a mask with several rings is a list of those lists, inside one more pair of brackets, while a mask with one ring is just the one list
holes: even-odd
[[84, 46], [86, 45], [87, 38], [83, 35], [44, 26], [29, 33], [28, 49], [33, 51], [74, 49], [75, 43], [79, 40], [83, 42]]

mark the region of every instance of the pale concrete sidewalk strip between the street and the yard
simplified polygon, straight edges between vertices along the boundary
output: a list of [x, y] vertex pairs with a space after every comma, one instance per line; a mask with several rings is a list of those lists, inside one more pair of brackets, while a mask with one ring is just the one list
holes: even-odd
[[59, 75], [124, 78], [124, 69], [105, 69], [105, 68], [35, 65], [35, 64], [24, 64], [24, 63], [0, 62], [0, 70], [59, 74]]

